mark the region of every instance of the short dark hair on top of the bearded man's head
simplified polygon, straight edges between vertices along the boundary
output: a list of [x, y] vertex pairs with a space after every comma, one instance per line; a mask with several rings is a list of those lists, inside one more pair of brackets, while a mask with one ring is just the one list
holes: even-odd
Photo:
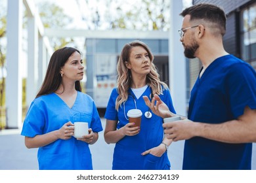
[[221, 35], [226, 33], [226, 14], [224, 10], [217, 5], [209, 3], [200, 3], [192, 7], [185, 8], [181, 12], [181, 16], [190, 15], [192, 20], [204, 20], [216, 24]]

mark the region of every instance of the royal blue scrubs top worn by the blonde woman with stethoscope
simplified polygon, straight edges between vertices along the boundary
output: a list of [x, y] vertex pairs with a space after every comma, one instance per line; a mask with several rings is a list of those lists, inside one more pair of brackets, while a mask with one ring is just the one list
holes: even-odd
[[[165, 152], [161, 157], [156, 157], [152, 154], [147, 154], [145, 156], [141, 155], [142, 152], [158, 146], [163, 140], [162, 118], [155, 114], [152, 114], [152, 118], [149, 119], [144, 116], [144, 113], [148, 111], [148, 107], [146, 106], [142, 96], [146, 95], [150, 97], [150, 87], [146, 88], [145, 92], [139, 97], [139, 99], [135, 97], [135, 94], [131, 89], [129, 89], [129, 93], [129, 97], [125, 102], [125, 109], [122, 104], [117, 112], [115, 108], [116, 98], [118, 96], [117, 88], [112, 90], [108, 106], [106, 108], [105, 118], [107, 120], [117, 120], [117, 129], [123, 127], [128, 123], [125, 115], [127, 117], [128, 110], [135, 108], [136, 101], [137, 108], [142, 111], [140, 133], [135, 136], [125, 136], [116, 143], [112, 169], [170, 169], [171, 165], [167, 157], [167, 152]], [[167, 104], [172, 112], [175, 112], [169, 90], [164, 90], [163, 95], [160, 95], [160, 98]]]

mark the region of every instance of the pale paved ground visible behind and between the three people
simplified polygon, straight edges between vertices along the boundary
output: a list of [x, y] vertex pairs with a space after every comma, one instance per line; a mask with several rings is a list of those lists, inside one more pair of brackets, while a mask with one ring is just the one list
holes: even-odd
[[[102, 118], [102, 126], [106, 121]], [[184, 141], [173, 142], [169, 147], [168, 156], [171, 169], [182, 169], [182, 154]], [[114, 144], [106, 144], [103, 131], [99, 133], [98, 141], [90, 146], [95, 170], [111, 170]], [[0, 131], [0, 170], [37, 170], [37, 148], [28, 149], [24, 137], [18, 129]], [[256, 144], [253, 144], [252, 169], [256, 170]]]

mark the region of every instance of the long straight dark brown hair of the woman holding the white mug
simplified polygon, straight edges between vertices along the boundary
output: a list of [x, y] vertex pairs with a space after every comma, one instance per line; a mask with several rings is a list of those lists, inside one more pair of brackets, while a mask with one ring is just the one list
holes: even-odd
[[[60, 48], [53, 53], [47, 68], [45, 80], [43, 80], [43, 84], [37, 93], [36, 98], [58, 90], [62, 82], [60, 69], [65, 65], [68, 58], [70, 58], [74, 52], [81, 54], [79, 50], [72, 47]], [[81, 83], [79, 80], [75, 81], [75, 90], [81, 92]]]

